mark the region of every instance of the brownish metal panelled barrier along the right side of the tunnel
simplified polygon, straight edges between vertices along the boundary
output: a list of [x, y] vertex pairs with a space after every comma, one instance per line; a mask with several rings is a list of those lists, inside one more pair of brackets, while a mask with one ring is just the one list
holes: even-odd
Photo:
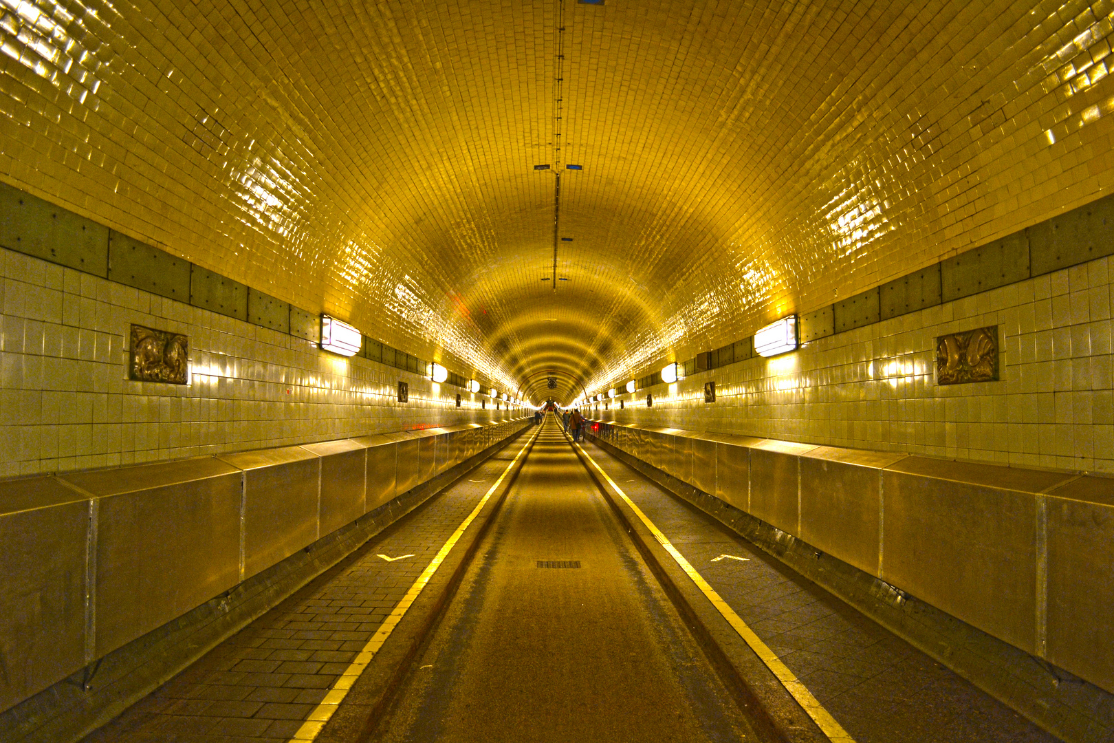
[[1114, 692], [1114, 478], [614, 421], [588, 434]]

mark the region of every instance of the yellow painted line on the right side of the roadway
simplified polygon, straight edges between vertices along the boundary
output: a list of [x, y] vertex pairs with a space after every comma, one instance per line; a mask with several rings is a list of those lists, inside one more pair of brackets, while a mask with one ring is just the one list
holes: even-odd
[[762, 658], [762, 662], [766, 664], [766, 667], [773, 672], [773, 675], [778, 677], [778, 681], [781, 682], [782, 686], [784, 686], [785, 690], [793, 695], [797, 703], [804, 708], [810, 717], [812, 717], [813, 722], [817, 723], [823, 734], [833, 742], [854, 743], [854, 739], [852, 739], [848, 732], [843, 730], [842, 725], [836, 722], [836, 718], [831, 716], [831, 713], [828, 712], [828, 710], [824, 710], [820, 702], [817, 701], [817, 697], [812, 696], [812, 692], [810, 692], [804, 684], [802, 684], [800, 680], [793, 675], [793, 672], [781, 662], [781, 658], [779, 658], [776, 654], [774, 654], [774, 652], [771, 651], [770, 647], [754, 634], [754, 630], [746, 626], [746, 623], [743, 622], [737, 614], [735, 614], [735, 610], [727, 605], [727, 602], [720, 598], [720, 594], [715, 593], [715, 588], [712, 588], [707, 580], [705, 580], [704, 577], [696, 571], [696, 568], [694, 568], [688, 560], [685, 559], [685, 556], [677, 551], [677, 548], [673, 546], [673, 542], [671, 542], [666, 536], [662, 534], [661, 529], [654, 526], [654, 522], [642, 512], [642, 509], [635, 506], [633, 500], [627, 498], [627, 495], [623, 492], [623, 488], [616, 485], [615, 480], [613, 480], [610, 476], [604, 471], [604, 468], [596, 463], [596, 460], [592, 458], [592, 454], [585, 451], [578, 443], [574, 443], [573, 446], [579, 449], [580, 453], [583, 453], [587, 460], [592, 462], [592, 466], [604, 476], [604, 479], [607, 480], [607, 483], [612, 486], [615, 492], [618, 493], [619, 498], [623, 499], [623, 502], [625, 502], [631, 510], [635, 512], [646, 528], [649, 529], [651, 534], [654, 535], [654, 538], [657, 539], [662, 547], [664, 547], [665, 550], [673, 556], [673, 559], [677, 561], [681, 569], [693, 579], [693, 583], [695, 583], [702, 592], [704, 592], [707, 599], [712, 602], [712, 605], [715, 606], [716, 609], [720, 610], [723, 618], [735, 628], [739, 636], [751, 646], [751, 649], [754, 651], [760, 658]]

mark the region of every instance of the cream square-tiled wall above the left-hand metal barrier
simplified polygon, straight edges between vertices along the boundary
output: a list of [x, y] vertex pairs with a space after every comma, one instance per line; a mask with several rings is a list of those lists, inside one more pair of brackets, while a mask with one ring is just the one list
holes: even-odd
[[[0, 278], [0, 477], [507, 416], [449, 384], [3, 248]], [[127, 379], [131, 323], [189, 336], [189, 385]]]

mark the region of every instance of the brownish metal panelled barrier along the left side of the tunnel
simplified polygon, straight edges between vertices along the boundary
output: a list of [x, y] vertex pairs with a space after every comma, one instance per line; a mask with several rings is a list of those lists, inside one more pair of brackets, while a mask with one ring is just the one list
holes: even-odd
[[0, 712], [529, 420], [0, 482]]

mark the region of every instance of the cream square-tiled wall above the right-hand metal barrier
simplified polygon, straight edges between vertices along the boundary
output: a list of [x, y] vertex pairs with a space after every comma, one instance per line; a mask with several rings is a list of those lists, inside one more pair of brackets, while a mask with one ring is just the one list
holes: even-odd
[[[597, 417], [1010, 465], [1114, 472], [1111, 278], [1100, 258], [624, 394]], [[936, 336], [998, 325], [1000, 381], [939, 387]], [[716, 402], [704, 402], [715, 380]]]

